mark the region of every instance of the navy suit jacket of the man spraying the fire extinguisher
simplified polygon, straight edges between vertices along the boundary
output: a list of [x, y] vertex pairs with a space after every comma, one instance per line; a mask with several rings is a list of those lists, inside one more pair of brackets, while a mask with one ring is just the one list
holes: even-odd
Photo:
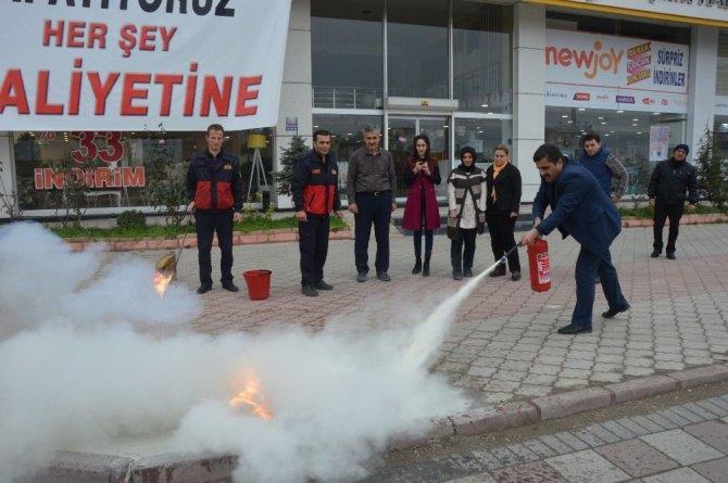
[[[551, 215], [543, 219], [547, 206]], [[576, 163], [564, 163], [556, 182], [541, 180], [534, 200], [534, 216], [543, 219], [536, 229], [549, 234], [555, 228], [569, 234], [581, 247], [604, 253], [622, 231], [622, 218], [594, 175]]]

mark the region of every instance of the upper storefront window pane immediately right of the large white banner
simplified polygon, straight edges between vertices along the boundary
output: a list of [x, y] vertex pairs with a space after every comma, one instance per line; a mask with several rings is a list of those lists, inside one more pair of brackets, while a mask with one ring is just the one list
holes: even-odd
[[381, 107], [381, 0], [311, 2], [313, 105]]

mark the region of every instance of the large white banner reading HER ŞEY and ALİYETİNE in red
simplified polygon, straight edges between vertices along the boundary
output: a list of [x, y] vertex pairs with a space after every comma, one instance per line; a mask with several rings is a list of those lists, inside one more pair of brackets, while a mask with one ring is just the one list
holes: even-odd
[[3, 0], [0, 129], [274, 126], [290, 1]]

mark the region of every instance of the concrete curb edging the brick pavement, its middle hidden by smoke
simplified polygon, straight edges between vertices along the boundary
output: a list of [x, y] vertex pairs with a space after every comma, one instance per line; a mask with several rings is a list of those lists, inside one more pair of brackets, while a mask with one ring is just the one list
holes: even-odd
[[[564, 418], [578, 412], [613, 406], [671, 391], [728, 381], [728, 365], [687, 369], [664, 376], [587, 387], [530, 401], [513, 402], [498, 408], [474, 408], [462, 415], [422, 421], [414, 433], [398, 434], [388, 450], [401, 450], [434, 440], [472, 436], [539, 421]], [[167, 454], [140, 459], [126, 456], [59, 453], [53, 465], [25, 482], [72, 483], [77, 481], [133, 481], [212, 483], [226, 481], [237, 465], [229, 455]]]

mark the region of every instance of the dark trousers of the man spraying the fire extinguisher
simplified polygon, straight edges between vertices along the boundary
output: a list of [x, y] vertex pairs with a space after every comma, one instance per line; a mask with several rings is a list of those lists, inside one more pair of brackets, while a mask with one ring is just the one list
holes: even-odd
[[579, 327], [591, 327], [591, 313], [594, 307], [594, 278], [599, 275], [604, 296], [610, 308], [625, 308], [627, 300], [622, 294], [617, 270], [612, 265], [612, 256], [607, 250], [598, 254], [583, 246], [576, 259], [576, 306], [572, 315], [572, 323]]

